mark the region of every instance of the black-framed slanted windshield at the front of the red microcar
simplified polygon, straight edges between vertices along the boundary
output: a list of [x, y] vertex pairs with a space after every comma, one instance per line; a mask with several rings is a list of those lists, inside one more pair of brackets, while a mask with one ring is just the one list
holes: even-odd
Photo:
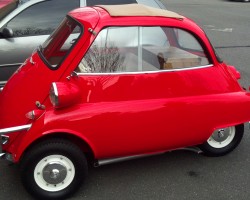
[[76, 21], [65, 18], [52, 35], [40, 46], [39, 53], [49, 67], [57, 68], [78, 40], [81, 28]]

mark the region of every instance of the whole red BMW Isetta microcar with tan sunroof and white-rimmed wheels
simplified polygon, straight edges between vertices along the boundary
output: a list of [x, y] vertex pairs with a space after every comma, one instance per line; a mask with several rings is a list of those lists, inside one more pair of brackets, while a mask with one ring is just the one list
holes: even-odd
[[1, 157], [37, 198], [72, 194], [95, 166], [240, 143], [250, 94], [205, 33], [142, 5], [76, 9], [0, 92]]

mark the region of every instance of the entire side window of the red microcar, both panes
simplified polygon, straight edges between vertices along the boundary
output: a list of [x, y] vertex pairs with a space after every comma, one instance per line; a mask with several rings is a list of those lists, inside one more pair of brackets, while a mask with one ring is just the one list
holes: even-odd
[[82, 73], [158, 71], [208, 65], [190, 33], [169, 27], [103, 29], [76, 71]]

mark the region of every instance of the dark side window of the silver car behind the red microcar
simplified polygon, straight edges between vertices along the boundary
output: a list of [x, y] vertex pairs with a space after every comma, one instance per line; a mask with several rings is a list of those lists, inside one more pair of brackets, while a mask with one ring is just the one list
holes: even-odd
[[49, 35], [66, 14], [80, 6], [79, 0], [51, 0], [32, 5], [7, 24], [14, 37]]

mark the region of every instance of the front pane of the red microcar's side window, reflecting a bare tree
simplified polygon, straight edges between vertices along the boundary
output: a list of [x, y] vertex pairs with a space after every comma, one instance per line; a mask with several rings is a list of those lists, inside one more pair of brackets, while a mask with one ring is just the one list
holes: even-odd
[[[103, 29], [76, 71], [83, 73], [123, 72], [137, 68], [138, 27]], [[130, 55], [134, 55], [132, 58]], [[134, 70], [133, 70], [134, 71]]]

